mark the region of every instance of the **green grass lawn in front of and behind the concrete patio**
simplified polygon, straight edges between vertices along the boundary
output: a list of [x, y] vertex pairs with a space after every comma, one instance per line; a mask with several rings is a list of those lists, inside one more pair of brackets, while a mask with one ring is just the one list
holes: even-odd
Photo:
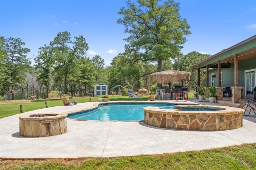
[[[189, 94], [188, 98], [192, 98]], [[76, 99], [76, 98], [75, 98]], [[98, 97], [77, 98], [78, 103], [98, 101]], [[111, 101], [128, 96], [111, 96]], [[147, 101], [147, 96], [140, 96]], [[62, 106], [61, 99], [35, 101], [0, 101], [0, 118], [35, 109]], [[3, 139], [2, 139], [3, 140]], [[75, 150], [74, 150], [75, 152]], [[114, 158], [0, 158], [0, 170], [256, 170], [256, 143], [218, 149], [177, 152], [159, 155], [122, 156]]]

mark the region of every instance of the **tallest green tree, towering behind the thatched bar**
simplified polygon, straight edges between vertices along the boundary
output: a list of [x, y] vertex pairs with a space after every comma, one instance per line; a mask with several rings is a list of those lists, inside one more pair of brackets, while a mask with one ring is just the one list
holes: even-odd
[[179, 14], [179, 3], [174, 0], [131, 0], [126, 2], [128, 8], [121, 8], [117, 23], [126, 28], [124, 38], [128, 42], [125, 52], [133, 61], [149, 61], [158, 63], [158, 71], [162, 71], [162, 61], [175, 58], [186, 42], [184, 35], [190, 35], [186, 19]]

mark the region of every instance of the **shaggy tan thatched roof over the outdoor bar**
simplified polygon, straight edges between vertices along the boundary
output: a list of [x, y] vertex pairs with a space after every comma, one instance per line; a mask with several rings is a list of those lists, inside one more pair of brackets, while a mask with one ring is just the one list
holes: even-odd
[[160, 72], [154, 72], [150, 74], [151, 83], [164, 84], [167, 82], [182, 82], [183, 80], [190, 80], [190, 72], [177, 71], [177, 70], [166, 70]]

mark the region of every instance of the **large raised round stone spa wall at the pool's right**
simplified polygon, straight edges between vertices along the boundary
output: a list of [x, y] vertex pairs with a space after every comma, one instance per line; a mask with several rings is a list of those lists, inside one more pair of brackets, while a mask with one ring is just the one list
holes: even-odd
[[[182, 111], [182, 107], [212, 108], [216, 111]], [[221, 131], [242, 127], [244, 109], [228, 106], [176, 105], [175, 109], [144, 107], [144, 123], [166, 129]]]

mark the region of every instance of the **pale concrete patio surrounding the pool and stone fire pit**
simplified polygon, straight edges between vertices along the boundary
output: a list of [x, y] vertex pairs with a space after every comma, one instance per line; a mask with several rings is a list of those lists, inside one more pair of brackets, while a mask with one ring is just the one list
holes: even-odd
[[[80, 111], [97, 103], [48, 107], [21, 114]], [[222, 105], [198, 102], [197, 99], [189, 99], [188, 103]], [[256, 143], [256, 115], [253, 112], [244, 117], [243, 127], [228, 131], [162, 129], [146, 125], [144, 121], [68, 119], [67, 133], [50, 137], [20, 136], [19, 116], [20, 114], [0, 119], [0, 158], [135, 156]]]

